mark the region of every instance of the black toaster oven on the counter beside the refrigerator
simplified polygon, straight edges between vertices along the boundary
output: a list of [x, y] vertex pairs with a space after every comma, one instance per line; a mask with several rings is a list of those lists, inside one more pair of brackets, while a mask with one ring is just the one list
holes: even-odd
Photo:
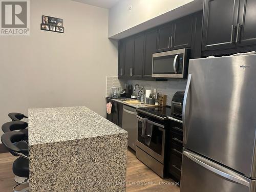
[[172, 117], [182, 120], [184, 91], [178, 91], [172, 99]]

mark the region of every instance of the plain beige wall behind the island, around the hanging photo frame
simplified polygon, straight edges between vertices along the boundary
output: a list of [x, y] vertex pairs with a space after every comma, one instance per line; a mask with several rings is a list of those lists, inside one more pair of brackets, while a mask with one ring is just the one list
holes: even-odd
[[[104, 116], [118, 58], [108, 10], [70, 0], [32, 0], [30, 10], [30, 36], [0, 36], [0, 124], [28, 108], [88, 106]], [[40, 30], [41, 15], [63, 18], [65, 33]]]

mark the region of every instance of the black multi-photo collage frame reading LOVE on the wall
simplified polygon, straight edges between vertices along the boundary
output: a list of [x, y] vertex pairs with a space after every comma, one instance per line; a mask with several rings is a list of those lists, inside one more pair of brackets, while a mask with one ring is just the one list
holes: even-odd
[[[63, 19], [42, 15], [41, 30], [64, 33]], [[47, 26], [47, 27], [44, 27]], [[57, 30], [56, 30], [57, 29]], [[62, 30], [60, 30], [62, 29]]]

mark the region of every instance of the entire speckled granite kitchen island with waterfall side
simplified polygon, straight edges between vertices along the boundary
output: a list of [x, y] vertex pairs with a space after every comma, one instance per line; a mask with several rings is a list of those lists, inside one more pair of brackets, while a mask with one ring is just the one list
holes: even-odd
[[125, 191], [127, 132], [86, 107], [29, 109], [34, 191]]

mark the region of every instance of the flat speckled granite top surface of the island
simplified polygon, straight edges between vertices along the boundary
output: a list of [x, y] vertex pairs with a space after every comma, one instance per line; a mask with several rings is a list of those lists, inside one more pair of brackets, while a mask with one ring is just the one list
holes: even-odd
[[121, 133], [127, 132], [84, 106], [29, 109], [29, 145]]

